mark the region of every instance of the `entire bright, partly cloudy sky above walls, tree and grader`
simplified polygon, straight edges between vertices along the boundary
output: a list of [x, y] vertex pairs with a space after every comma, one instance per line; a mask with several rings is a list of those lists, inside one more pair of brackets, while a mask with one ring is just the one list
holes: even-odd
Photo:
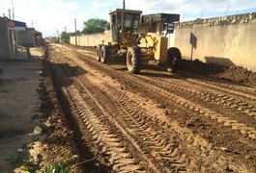
[[[82, 30], [83, 21], [102, 18], [108, 21], [108, 12], [122, 9], [123, 0], [0, 0], [0, 15], [8, 16], [14, 7], [14, 19], [26, 22], [43, 33], [56, 36], [65, 31]], [[222, 15], [256, 12], [256, 0], [126, 0], [126, 8], [148, 13], [180, 13], [181, 21]]]

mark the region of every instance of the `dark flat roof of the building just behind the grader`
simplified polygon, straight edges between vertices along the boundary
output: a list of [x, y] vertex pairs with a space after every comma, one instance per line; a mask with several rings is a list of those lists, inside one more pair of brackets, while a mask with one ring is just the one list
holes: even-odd
[[146, 24], [149, 22], [163, 21], [165, 23], [173, 23], [180, 21], [180, 14], [178, 13], [153, 13], [141, 16], [141, 23]]

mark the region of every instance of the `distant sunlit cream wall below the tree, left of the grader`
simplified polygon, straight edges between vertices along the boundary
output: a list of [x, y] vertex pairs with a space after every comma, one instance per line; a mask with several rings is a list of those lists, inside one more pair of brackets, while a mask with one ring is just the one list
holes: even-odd
[[[78, 46], [96, 46], [98, 44], [101, 44], [102, 40], [104, 40], [105, 44], [111, 40], [109, 31], [105, 31], [104, 33], [99, 33], [99, 34], [81, 35], [76, 37], [77, 37], [76, 39], [77, 39]], [[70, 43], [72, 45], [75, 45], [74, 36], [70, 37]]]

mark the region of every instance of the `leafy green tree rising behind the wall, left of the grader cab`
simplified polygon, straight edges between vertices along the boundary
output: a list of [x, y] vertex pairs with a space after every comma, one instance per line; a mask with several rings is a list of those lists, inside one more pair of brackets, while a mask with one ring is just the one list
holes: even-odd
[[108, 22], [100, 18], [90, 18], [84, 22], [82, 34], [102, 33], [108, 28]]

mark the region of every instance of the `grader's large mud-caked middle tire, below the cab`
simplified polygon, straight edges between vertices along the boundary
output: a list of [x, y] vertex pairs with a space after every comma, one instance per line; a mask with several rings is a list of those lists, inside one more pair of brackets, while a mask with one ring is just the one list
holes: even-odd
[[140, 48], [132, 46], [128, 48], [127, 54], [128, 72], [137, 74], [140, 71]]

